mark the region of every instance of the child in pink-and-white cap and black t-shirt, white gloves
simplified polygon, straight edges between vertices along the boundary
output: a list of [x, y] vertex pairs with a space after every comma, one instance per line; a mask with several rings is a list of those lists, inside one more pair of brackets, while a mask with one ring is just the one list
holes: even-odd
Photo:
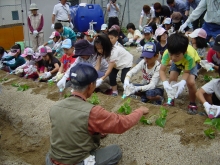
[[60, 68], [60, 61], [53, 56], [52, 49], [49, 46], [41, 47], [39, 49], [39, 54], [42, 56], [44, 61], [44, 74], [40, 75], [40, 81], [47, 81], [54, 77]]

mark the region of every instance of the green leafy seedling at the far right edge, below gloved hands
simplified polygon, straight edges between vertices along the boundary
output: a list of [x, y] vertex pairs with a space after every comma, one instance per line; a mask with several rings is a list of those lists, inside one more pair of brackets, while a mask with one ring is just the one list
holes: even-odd
[[215, 138], [215, 132], [220, 131], [220, 118], [206, 119], [204, 124], [209, 125], [210, 128], [204, 131], [204, 134], [211, 139]]

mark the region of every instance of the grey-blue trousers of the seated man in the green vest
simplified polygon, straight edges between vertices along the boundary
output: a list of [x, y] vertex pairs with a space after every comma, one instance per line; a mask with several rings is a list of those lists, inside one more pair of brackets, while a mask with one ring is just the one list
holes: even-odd
[[[118, 145], [110, 145], [91, 152], [91, 155], [95, 155], [95, 165], [115, 165], [121, 159], [122, 151]], [[53, 165], [49, 153], [46, 155], [46, 165]], [[77, 165], [84, 165], [84, 161]]]

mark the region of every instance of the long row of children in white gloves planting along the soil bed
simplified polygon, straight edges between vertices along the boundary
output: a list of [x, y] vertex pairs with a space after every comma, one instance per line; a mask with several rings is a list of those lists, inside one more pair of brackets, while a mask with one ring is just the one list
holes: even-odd
[[[198, 69], [201, 68], [199, 62], [207, 58], [213, 69], [219, 72], [220, 36], [216, 38], [214, 47], [209, 49], [205, 40], [207, 34], [203, 29], [196, 29], [192, 33], [187, 32], [186, 35], [179, 33], [170, 35], [163, 27], [158, 27], [154, 32], [151, 26], [146, 25], [139, 34], [134, 25], [130, 23], [127, 26], [128, 42], [138, 41], [137, 49], [142, 52], [136, 66], [132, 68], [133, 55], [123, 47], [123, 42], [122, 44], [119, 42], [122, 40], [120, 27], [113, 25], [107, 29], [104, 25], [100, 33], [94, 32], [92, 36], [89, 32], [75, 33], [69, 27], [56, 23], [54, 26], [56, 31], [50, 36], [52, 40], [40, 46], [37, 52], [26, 48], [21, 54], [20, 46], [14, 45], [7, 55], [6, 51], [0, 48], [4, 63], [2, 69], [20, 73], [20, 76], [34, 80], [37, 78], [40, 81], [52, 79], [58, 82], [57, 86], [60, 89], [64, 89], [70, 86], [68, 83], [70, 69], [79, 62], [89, 63], [99, 72], [96, 87], [102, 89], [103, 84], [107, 84], [104, 85], [104, 91], [112, 96], [118, 95], [116, 78], [119, 71], [121, 71], [124, 90], [130, 86], [131, 77], [141, 71], [143, 81], [133, 84], [135, 88], [132, 94], [141, 96], [142, 102], [161, 105], [164, 100], [164, 90], [168, 94], [175, 88], [175, 96], [164, 104], [173, 106], [174, 99], [187, 86], [190, 101], [188, 113], [197, 113], [195, 80]], [[133, 36], [132, 41], [131, 36]], [[49, 44], [53, 44], [52, 48], [47, 46]], [[208, 54], [207, 57], [206, 54]], [[169, 79], [166, 76], [168, 67]], [[177, 82], [181, 73], [182, 80]], [[198, 92], [203, 94], [204, 90], [200, 89]], [[203, 99], [200, 95], [197, 97], [204, 103], [206, 109], [207, 102], [210, 103], [209, 105], [212, 104], [210, 99], [204, 102], [205, 97]], [[219, 94], [212, 99], [215, 100], [213, 103], [218, 103]]]

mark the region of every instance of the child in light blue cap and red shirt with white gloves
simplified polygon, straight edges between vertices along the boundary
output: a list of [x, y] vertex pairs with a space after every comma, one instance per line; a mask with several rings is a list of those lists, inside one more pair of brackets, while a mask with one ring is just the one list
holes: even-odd
[[73, 64], [76, 60], [74, 58], [74, 43], [70, 39], [65, 39], [62, 43], [61, 47], [65, 54], [61, 57], [60, 62], [61, 66], [59, 68], [58, 73], [55, 76], [55, 80], [58, 81], [63, 77], [63, 74], [70, 68], [71, 64]]

